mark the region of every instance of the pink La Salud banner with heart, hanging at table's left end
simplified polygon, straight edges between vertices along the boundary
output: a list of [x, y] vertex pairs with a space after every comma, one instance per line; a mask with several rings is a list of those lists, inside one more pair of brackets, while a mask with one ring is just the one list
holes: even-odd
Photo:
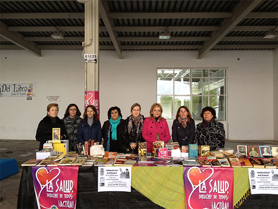
[[78, 168], [32, 167], [38, 209], [75, 209]]

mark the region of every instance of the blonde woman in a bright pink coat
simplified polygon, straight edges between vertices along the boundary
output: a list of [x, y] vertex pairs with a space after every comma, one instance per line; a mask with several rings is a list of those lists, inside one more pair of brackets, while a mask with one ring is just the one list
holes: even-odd
[[152, 142], [162, 140], [167, 143], [171, 136], [166, 119], [162, 118], [162, 106], [158, 103], [151, 105], [149, 117], [145, 118], [142, 136], [147, 143], [147, 152], [152, 151]]

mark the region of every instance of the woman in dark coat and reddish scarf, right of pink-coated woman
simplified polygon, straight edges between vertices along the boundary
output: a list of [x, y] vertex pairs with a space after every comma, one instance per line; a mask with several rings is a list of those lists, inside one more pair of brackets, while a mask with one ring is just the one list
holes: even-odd
[[172, 125], [172, 139], [180, 146], [193, 144], [195, 121], [187, 106], [180, 106]]

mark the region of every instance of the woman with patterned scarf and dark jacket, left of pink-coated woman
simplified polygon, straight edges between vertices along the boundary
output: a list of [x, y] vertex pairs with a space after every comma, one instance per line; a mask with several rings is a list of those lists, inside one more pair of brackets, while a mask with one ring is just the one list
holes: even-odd
[[138, 143], [144, 142], [142, 129], [144, 116], [140, 114], [141, 106], [135, 103], [131, 106], [131, 115], [125, 120], [123, 152], [138, 154]]

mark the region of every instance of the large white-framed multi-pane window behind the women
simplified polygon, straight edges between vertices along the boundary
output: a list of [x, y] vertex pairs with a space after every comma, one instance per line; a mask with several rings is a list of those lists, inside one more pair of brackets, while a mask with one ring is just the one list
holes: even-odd
[[162, 116], [174, 119], [178, 108], [185, 105], [195, 120], [205, 106], [216, 111], [218, 120], [226, 120], [226, 73], [223, 68], [157, 69], [157, 102]]

